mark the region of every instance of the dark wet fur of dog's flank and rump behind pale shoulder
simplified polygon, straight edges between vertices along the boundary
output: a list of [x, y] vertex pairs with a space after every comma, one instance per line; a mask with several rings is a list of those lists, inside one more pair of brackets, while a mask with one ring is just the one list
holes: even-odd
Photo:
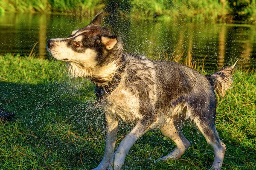
[[215, 108], [214, 89], [204, 75], [176, 62], [154, 61], [154, 65], [161, 87], [156, 108], [168, 110], [168, 107], [185, 102], [193, 110], [188, 115], [191, 119], [207, 108]]

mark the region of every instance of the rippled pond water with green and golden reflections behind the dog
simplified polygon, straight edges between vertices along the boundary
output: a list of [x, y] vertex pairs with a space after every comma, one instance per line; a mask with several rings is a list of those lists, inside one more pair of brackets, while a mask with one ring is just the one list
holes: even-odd
[[[49, 55], [46, 41], [67, 37], [75, 29], [90, 23], [90, 16], [57, 14], [5, 14], [0, 16], [0, 54]], [[182, 21], [154, 22], [104, 18], [104, 26], [121, 37], [125, 51], [165, 59], [183, 54], [194, 61], [205, 59], [205, 68], [215, 70], [239, 60], [247, 69], [256, 67], [256, 26], [184, 23]]]

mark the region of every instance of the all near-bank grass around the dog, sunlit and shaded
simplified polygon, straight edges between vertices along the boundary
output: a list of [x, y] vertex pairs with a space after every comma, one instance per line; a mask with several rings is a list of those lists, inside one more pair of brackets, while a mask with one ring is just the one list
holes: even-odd
[[[14, 112], [0, 122], [1, 170], [82, 170], [96, 167], [104, 153], [103, 116], [93, 85], [69, 78], [64, 63], [6, 54], [0, 56], [0, 106]], [[237, 70], [234, 88], [218, 100], [216, 126], [227, 145], [223, 170], [256, 169], [256, 73]], [[120, 122], [118, 142], [132, 125]], [[154, 162], [175, 149], [160, 130], [145, 133], [129, 151], [122, 169], [209, 169], [212, 148], [195, 125], [184, 135], [192, 146], [178, 159]]]

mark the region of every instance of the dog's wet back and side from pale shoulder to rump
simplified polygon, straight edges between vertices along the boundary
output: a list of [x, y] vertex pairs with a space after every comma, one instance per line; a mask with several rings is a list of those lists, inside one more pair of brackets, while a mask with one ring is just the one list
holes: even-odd
[[[155, 111], [172, 116], [177, 113], [170, 115], [170, 108], [182, 105], [178, 111], [186, 106], [186, 118], [212, 117], [212, 114], [207, 116], [206, 113], [208, 110], [215, 111], [216, 96], [207, 77], [176, 62], [155, 61], [131, 54], [126, 54], [126, 59], [128, 63], [122, 77], [126, 87], [123, 88], [130, 88], [134, 94], [148, 90]], [[143, 87], [138, 84], [141, 82], [147, 89], [140, 88]]]

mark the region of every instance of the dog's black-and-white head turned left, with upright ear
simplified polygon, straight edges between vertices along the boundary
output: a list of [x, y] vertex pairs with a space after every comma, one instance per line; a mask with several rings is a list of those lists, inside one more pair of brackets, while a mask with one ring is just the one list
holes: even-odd
[[116, 70], [113, 62], [122, 53], [122, 43], [101, 26], [102, 15], [103, 12], [99, 13], [88, 26], [73, 31], [67, 38], [47, 41], [49, 53], [55, 59], [69, 62], [75, 77], [102, 77], [99, 71], [106, 65], [111, 67], [110, 72]]

